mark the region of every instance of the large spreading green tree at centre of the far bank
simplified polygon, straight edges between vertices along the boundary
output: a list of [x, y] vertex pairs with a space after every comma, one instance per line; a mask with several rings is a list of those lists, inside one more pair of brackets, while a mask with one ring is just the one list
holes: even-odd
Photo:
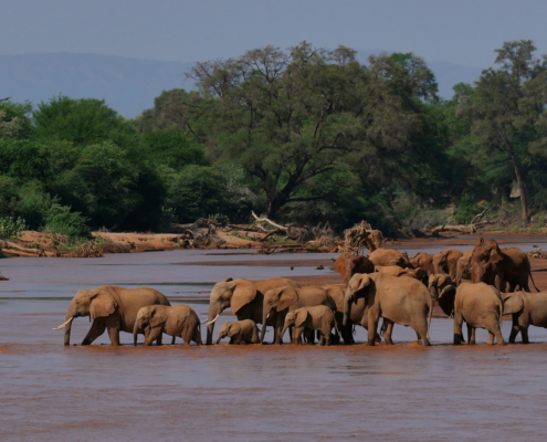
[[[214, 98], [209, 155], [260, 180], [269, 217], [287, 203], [325, 200], [351, 185], [361, 159], [382, 162], [411, 148], [420, 118], [408, 103], [436, 86], [412, 76], [409, 65], [383, 55], [364, 66], [350, 49], [314, 50], [305, 42], [290, 53], [267, 46], [198, 63], [190, 76]], [[346, 180], [303, 190], [335, 171]]]

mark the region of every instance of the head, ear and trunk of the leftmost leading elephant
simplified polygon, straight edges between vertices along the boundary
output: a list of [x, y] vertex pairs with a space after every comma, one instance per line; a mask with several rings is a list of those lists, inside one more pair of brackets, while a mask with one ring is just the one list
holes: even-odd
[[54, 330], [65, 329], [64, 345], [69, 346], [71, 345], [71, 329], [74, 318], [80, 316], [90, 316], [91, 319], [106, 317], [116, 312], [117, 306], [117, 295], [114, 288], [108, 285], [78, 291], [66, 312], [66, 322], [54, 328]]

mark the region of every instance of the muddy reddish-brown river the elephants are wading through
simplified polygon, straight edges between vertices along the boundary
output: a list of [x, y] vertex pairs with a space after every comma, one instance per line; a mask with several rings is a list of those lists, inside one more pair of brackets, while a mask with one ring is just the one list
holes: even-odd
[[[534, 244], [547, 250], [545, 241]], [[530, 250], [532, 243], [518, 246]], [[0, 270], [10, 281], [0, 283], [0, 440], [547, 439], [543, 328], [530, 328], [528, 346], [490, 347], [487, 333], [477, 330], [478, 345], [453, 347], [452, 320], [433, 319], [430, 348], [415, 346], [413, 330], [397, 325], [395, 346], [329, 348], [185, 348], [180, 340], [144, 348], [133, 347], [129, 334], [122, 334], [118, 348], [106, 335], [97, 345], [64, 347], [63, 332], [52, 330], [64, 322], [78, 288], [151, 286], [173, 304], [185, 299], [204, 318], [202, 299], [224, 277], [334, 275], [327, 266], [298, 263], [334, 255], [221, 252], [2, 260]], [[259, 260], [280, 265], [244, 265]], [[294, 261], [293, 271], [285, 261]], [[227, 320], [233, 316], [222, 315], [215, 334]], [[72, 343], [88, 327], [86, 318], [77, 318]], [[505, 322], [506, 338], [509, 328]], [[366, 340], [360, 327], [356, 340]]]

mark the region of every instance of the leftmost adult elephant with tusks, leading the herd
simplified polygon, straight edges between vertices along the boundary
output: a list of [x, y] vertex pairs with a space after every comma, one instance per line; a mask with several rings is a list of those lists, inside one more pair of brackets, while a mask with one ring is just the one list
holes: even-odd
[[[105, 329], [113, 346], [119, 345], [119, 332], [133, 333], [137, 313], [147, 305], [170, 305], [169, 301], [154, 288], [124, 288], [112, 285], [76, 293], [66, 312], [66, 322], [54, 330], [64, 328], [64, 345], [71, 345], [71, 329], [74, 318], [90, 316], [93, 324], [82, 345], [90, 345]], [[159, 338], [161, 343], [161, 337]]]

